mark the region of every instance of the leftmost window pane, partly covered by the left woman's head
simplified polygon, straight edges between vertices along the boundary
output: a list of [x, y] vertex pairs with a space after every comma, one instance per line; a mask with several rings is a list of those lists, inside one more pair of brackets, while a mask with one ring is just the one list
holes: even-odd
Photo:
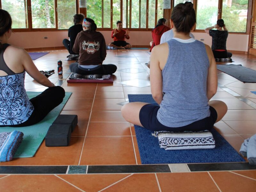
[[12, 28], [28, 28], [26, 0], [2, 0], [2, 9], [10, 13]]

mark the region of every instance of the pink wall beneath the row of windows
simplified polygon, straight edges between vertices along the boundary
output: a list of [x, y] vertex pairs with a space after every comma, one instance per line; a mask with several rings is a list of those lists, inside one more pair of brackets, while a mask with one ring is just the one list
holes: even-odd
[[[110, 37], [110, 31], [100, 31], [105, 37], [106, 43], [113, 41]], [[206, 33], [193, 33], [197, 40], [204, 39], [204, 43], [212, 45], [212, 37]], [[47, 39], [44, 39], [47, 36]], [[130, 39], [127, 40], [132, 45], [149, 45], [152, 41], [150, 31], [131, 31]], [[23, 48], [38, 47], [59, 47], [63, 46], [62, 40], [68, 38], [67, 31], [47, 31], [47, 32], [17, 32], [12, 33], [9, 43]], [[227, 40], [227, 49], [235, 51], [244, 51], [248, 49], [249, 35], [229, 34]]]

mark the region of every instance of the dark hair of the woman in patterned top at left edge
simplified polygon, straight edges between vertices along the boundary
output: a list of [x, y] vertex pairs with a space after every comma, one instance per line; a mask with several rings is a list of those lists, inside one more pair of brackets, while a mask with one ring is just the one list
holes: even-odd
[[[12, 28], [12, 18], [11, 15], [0, 9], [0, 36], [3, 36], [7, 31]], [[0, 50], [3, 49], [3, 44], [0, 42]]]

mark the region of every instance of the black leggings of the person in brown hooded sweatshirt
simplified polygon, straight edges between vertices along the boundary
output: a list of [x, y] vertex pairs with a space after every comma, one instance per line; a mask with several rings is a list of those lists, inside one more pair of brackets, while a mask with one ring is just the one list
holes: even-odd
[[100, 68], [86, 71], [78, 68], [78, 63], [72, 63], [70, 66], [70, 71], [73, 73], [78, 73], [81, 75], [112, 75], [116, 72], [117, 67], [113, 64], [101, 65]]

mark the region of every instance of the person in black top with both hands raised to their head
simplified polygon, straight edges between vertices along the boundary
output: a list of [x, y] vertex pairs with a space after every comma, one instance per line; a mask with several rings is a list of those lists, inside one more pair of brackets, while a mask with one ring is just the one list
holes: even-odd
[[[216, 28], [217, 30], [212, 30], [213, 28]], [[226, 48], [228, 29], [226, 28], [223, 19], [217, 20], [216, 25], [208, 27], [204, 31], [210, 36], [212, 36], [212, 52], [214, 58], [221, 59], [232, 57], [232, 53], [227, 52]]]

